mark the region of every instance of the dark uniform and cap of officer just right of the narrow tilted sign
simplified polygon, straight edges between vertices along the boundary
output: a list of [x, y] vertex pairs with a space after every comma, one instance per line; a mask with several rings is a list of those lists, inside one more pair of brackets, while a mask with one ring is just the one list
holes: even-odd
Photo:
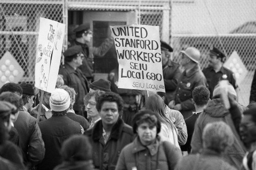
[[[81, 46], [70, 47], [63, 53], [65, 57], [71, 57], [82, 52]], [[59, 74], [62, 75], [64, 84], [74, 88], [76, 91], [76, 101], [73, 109], [76, 114], [84, 116], [84, 96], [89, 92], [89, 83], [82, 73], [77, 68], [76, 70], [71, 67], [68, 63], [60, 66]]]

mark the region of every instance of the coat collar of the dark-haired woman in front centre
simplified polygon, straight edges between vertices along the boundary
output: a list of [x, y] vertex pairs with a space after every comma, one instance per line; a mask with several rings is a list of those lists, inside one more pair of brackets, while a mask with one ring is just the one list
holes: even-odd
[[159, 148], [159, 137], [157, 137], [156, 142], [148, 145], [148, 146], [143, 146], [142, 143], [140, 142], [139, 137], [137, 136], [135, 140], [133, 141], [134, 148], [132, 149], [132, 154], [135, 154], [136, 152], [140, 152], [142, 150], [148, 149], [149, 153], [151, 156], [154, 156], [158, 152]]

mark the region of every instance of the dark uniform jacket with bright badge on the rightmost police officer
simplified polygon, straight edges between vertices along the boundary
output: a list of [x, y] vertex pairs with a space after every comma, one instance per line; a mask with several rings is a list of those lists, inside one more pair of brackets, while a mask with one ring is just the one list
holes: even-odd
[[203, 73], [207, 80], [207, 86], [210, 91], [210, 98], [212, 98], [212, 92], [214, 90], [214, 87], [218, 84], [220, 80], [228, 80], [235, 89], [237, 88], [234, 73], [226, 67], [222, 66], [220, 71], [216, 73], [214, 69], [209, 66], [203, 70]]

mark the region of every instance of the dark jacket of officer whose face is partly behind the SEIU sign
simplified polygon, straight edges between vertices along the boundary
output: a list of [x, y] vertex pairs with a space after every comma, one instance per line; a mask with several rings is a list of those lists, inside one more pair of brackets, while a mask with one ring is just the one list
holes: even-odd
[[169, 103], [171, 100], [174, 100], [175, 90], [177, 88], [180, 76], [180, 65], [169, 60], [167, 65], [163, 68], [163, 78], [167, 103]]

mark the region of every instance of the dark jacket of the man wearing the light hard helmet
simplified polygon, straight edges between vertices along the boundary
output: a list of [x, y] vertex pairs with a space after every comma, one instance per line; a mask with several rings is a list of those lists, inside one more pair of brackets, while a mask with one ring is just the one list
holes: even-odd
[[180, 113], [184, 118], [192, 115], [195, 106], [192, 102], [192, 91], [197, 86], [206, 87], [206, 79], [199, 65], [195, 65], [188, 73], [183, 71], [175, 91], [175, 104], [181, 104]]

